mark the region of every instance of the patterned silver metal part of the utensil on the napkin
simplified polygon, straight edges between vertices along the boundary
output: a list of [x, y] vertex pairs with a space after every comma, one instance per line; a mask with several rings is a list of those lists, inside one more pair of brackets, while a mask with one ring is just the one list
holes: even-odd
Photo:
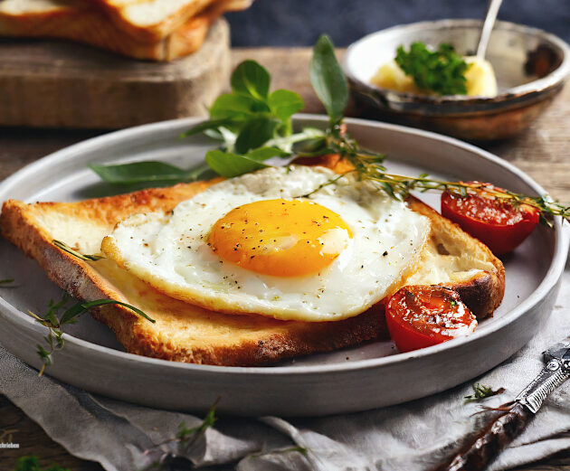
[[523, 391], [520, 391], [515, 400], [536, 414], [546, 400], [546, 396], [556, 390], [568, 378], [570, 378], [570, 363], [552, 358], [537, 378]]

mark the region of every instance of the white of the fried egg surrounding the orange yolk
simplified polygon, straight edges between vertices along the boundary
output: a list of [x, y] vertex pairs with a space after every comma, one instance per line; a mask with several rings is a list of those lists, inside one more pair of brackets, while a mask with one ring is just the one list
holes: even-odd
[[170, 214], [145, 213], [119, 222], [101, 250], [171, 297], [224, 313], [282, 320], [334, 321], [364, 312], [400, 287], [416, 268], [428, 218], [347, 177], [309, 195], [347, 223], [353, 238], [327, 268], [302, 277], [274, 277], [221, 259], [207, 245], [214, 223], [233, 208], [293, 199], [337, 176], [324, 167], [270, 167], [214, 184]]

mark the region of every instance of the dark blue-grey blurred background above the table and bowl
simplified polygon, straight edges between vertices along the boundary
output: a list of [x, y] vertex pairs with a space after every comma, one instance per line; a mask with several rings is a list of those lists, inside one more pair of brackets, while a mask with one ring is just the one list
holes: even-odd
[[[486, 10], [486, 0], [255, 0], [250, 9], [226, 16], [233, 46], [310, 46], [320, 33], [347, 46], [394, 24], [482, 18]], [[570, 0], [504, 0], [499, 19], [570, 42]]]

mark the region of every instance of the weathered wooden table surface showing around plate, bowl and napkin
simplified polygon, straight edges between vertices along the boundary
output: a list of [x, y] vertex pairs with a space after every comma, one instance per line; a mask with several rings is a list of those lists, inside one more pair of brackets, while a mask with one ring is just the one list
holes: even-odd
[[[306, 112], [322, 113], [323, 108], [309, 84], [309, 57], [309, 49], [233, 50], [234, 64], [246, 58], [259, 61], [271, 72], [272, 88], [293, 89], [305, 100]], [[569, 131], [570, 87], [566, 87], [545, 115], [525, 133], [515, 139], [486, 144], [484, 147], [530, 174], [554, 198], [570, 203]], [[105, 131], [0, 127], [0, 180], [43, 155], [103, 132]], [[69, 467], [71, 471], [102, 471], [102, 467], [96, 463], [71, 457], [45, 435], [43, 429], [0, 395], [0, 441], [5, 440], [2, 435], [6, 430], [13, 430], [12, 441], [19, 443], [20, 448], [0, 450], [2, 471], [11, 471], [18, 457], [31, 454], [39, 457], [43, 466], [57, 463]], [[570, 452], [518, 468], [522, 469], [570, 471]]]

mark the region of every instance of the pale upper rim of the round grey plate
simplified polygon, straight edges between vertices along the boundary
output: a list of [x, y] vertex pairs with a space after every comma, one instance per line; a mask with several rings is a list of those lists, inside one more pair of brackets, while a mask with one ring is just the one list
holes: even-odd
[[[44, 157], [34, 161], [29, 165], [25, 165], [22, 169], [18, 170], [14, 174], [7, 177], [3, 182], [0, 183], [0, 198], [3, 197], [3, 193], [9, 190], [14, 183], [21, 179], [25, 179], [28, 174], [31, 174], [38, 169], [42, 169], [44, 166], [53, 165], [60, 161], [67, 161], [71, 159], [73, 155], [81, 154], [90, 149], [90, 147], [97, 147], [100, 145], [109, 146], [123, 141], [125, 138], [137, 137], [137, 135], [146, 135], [148, 131], [154, 131], [159, 133], [161, 130], [172, 130], [173, 127], [183, 127], [192, 126], [197, 122], [203, 121], [205, 118], [176, 118], [166, 121], [159, 121], [157, 123], [150, 123], [138, 127], [128, 127], [126, 129], [121, 129], [119, 131], [110, 132], [98, 137], [91, 137], [90, 139], [81, 141], [79, 143], [73, 144], [71, 146], [64, 147], [50, 155], [45, 155]], [[327, 122], [328, 117], [323, 115], [314, 114], [296, 114], [294, 115], [295, 121], [318, 121]], [[441, 134], [433, 133], [431, 131], [424, 131], [422, 129], [416, 129], [413, 127], [405, 127], [400, 125], [394, 125], [389, 123], [384, 123], [380, 121], [372, 121], [363, 118], [346, 118], [345, 122], [350, 127], [354, 126], [364, 126], [364, 127], [377, 127], [383, 128], [385, 130], [392, 130], [408, 135], [415, 135], [418, 137], [425, 137], [441, 143], [460, 147], [464, 150], [470, 151], [480, 157], [488, 160], [494, 165], [498, 165], [503, 169], [508, 170], [511, 174], [518, 176], [525, 184], [537, 191], [538, 194], [545, 194], [545, 190], [537, 184], [537, 182], [527, 175], [522, 170], [518, 169], [515, 165], [510, 164], [508, 161], [501, 159], [497, 155], [493, 155], [488, 151], [481, 149], [478, 146], [473, 146], [469, 143], [462, 142], [459, 139], [453, 137], [443, 136]], [[2, 200], [4, 202], [5, 200]], [[196, 364], [196, 363], [183, 363], [183, 362], [172, 362], [169, 360], [162, 360], [159, 358], [152, 358], [143, 355], [138, 355], [136, 353], [128, 353], [116, 350], [111, 347], [93, 344], [89, 341], [83, 340], [79, 337], [75, 337], [71, 334], [63, 334], [63, 339], [65, 342], [70, 344], [75, 344], [79, 348], [84, 348], [87, 350], [86, 353], [97, 354], [103, 356], [111, 356], [119, 362], [136, 362], [143, 363], [145, 365], [158, 365], [162, 367], [167, 367], [175, 370], [182, 370], [188, 372], [199, 372], [199, 373], [212, 373], [212, 374], [250, 374], [250, 375], [314, 375], [314, 374], [326, 374], [330, 372], [356, 372], [368, 369], [374, 369], [377, 367], [385, 367], [390, 364], [395, 363], [405, 363], [417, 358], [423, 358], [431, 354], [441, 353], [445, 350], [453, 350], [454, 348], [460, 348], [463, 344], [473, 342], [480, 337], [485, 337], [487, 335], [493, 334], [499, 329], [505, 327], [506, 325], [515, 322], [518, 317], [524, 316], [527, 311], [537, 306], [537, 304], [543, 300], [544, 297], [550, 292], [551, 289], [556, 287], [556, 284], [561, 277], [564, 268], [566, 257], [568, 254], [568, 244], [569, 238], [565, 231], [562, 230], [562, 221], [559, 217], [555, 218], [554, 221], [554, 231], [555, 231], [555, 242], [554, 250], [552, 254], [552, 259], [550, 265], [546, 270], [545, 277], [541, 280], [537, 288], [530, 293], [530, 295], [514, 309], [509, 310], [503, 316], [501, 316], [493, 325], [482, 331], [475, 331], [474, 334], [470, 334], [467, 337], [462, 337], [459, 339], [453, 339], [450, 342], [443, 344], [433, 345], [431, 347], [423, 348], [421, 350], [416, 350], [409, 353], [396, 353], [394, 355], [388, 355], [378, 358], [368, 358], [364, 360], [357, 360], [350, 363], [331, 363], [331, 364], [316, 364], [316, 365], [303, 365], [303, 366], [278, 366], [278, 367], [268, 367], [268, 366], [221, 366], [221, 365], [210, 365], [210, 364]], [[46, 334], [47, 327], [39, 325], [33, 321], [31, 316], [25, 315], [23, 311], [20, 311], [16, 307], [5, 301], [4, 297], [0, 297], [0, 314], [5, 314], [9, 312], [11, 315], [11, 321], [21, 326], [24, 329], [32, 328], [38, 334]]]

